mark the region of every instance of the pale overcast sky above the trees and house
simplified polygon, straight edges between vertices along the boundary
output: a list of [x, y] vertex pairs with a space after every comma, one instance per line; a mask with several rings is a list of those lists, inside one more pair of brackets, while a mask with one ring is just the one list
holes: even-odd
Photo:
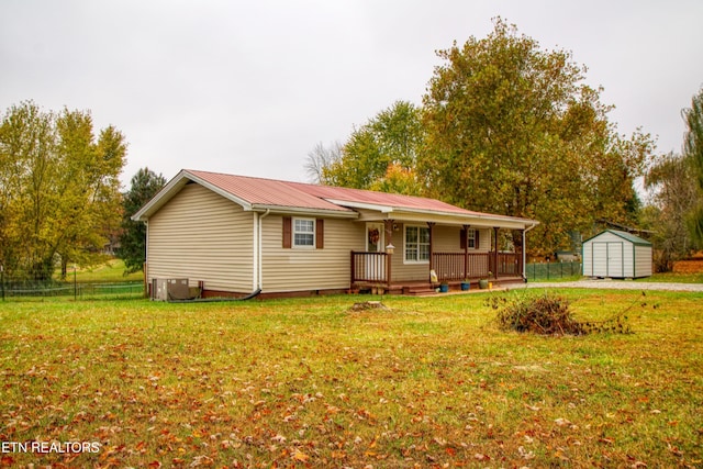
[[701, 0], [0, 0], [0, 107], [114, 125], [125, 187], [145, 166], [305, 181], [317, 143], [420, 104], [435, 51], [484, 37], [496, 15], [571, 51], [620, 133], [680, 150], [703, 86]]

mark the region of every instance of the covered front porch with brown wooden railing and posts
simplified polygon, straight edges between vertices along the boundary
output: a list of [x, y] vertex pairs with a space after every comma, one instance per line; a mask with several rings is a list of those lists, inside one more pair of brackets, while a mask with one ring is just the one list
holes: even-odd
[[[350, 253], [350, 283], [355, 291], [375, 289], [413, 293], [431, 291], [443, 283], [458, 290], [465, 282], [473, 289], [481, 279], [500, 284], [520, 282], [524, 278], [524, 227], [416, 224], [392, 220], [382, 227], [381, 235], [370, 236], [376, 244], [367, 242], [367, 250]], [[522, 232], [522, 236], [516, 232]], [[502, 234], [518, 239], [510, 243], [507, 247], [512, 249], [501, 246]]]

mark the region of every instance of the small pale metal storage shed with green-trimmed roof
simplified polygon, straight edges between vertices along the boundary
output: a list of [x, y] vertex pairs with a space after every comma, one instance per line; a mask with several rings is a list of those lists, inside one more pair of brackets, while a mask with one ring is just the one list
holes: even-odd
[[651, 243], [633, 234], [606, 230], [583, 242], [585, 277], [651, 276]]

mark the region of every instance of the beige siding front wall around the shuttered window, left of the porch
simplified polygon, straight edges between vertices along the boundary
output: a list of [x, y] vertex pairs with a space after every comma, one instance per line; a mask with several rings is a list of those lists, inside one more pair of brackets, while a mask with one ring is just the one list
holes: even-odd
[[[295, 216], [292, 216], [293, 220]], [[310, 219], [310, 216], [302, 216]], [[350, 252], [365, 249], [365, 225], [349, 220], [324, 219], [324, 247], [282, 247], [282, 217], [263, 221], [263, 291], [347, 289]]]

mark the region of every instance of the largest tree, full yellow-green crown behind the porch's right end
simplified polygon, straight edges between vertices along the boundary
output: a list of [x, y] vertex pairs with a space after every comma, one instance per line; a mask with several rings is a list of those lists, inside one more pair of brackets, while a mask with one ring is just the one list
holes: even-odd
[[532, 246], [566, 246], [596, 217], [625, 222], [633, 181], [652, 149], [648, 135], [624, 138], [607, 120], [600, 89], [565, 51], [544, 51], [494, 20], [437, 55], [423, 99], [425, 152], [419, 172], [437, 197], [478, 211], [536, 219]]

